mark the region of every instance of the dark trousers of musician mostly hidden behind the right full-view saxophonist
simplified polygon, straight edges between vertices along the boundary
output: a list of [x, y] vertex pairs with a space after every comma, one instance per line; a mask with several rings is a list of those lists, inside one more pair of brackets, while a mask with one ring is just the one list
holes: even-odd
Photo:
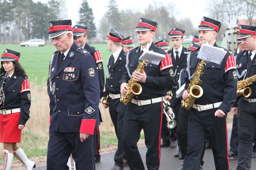
[[[178, 124], [178, 136], [180, 140], [181, 156], [183, 158], [187, 153], [188, 115], [189, 115], [188, 111], [184, 107], [181, 107], [179, 110], [179, 117], [178, 117], [178, 121], [180, 122]], [[203, 162], [204, 151], [205, 151], [205, 142], [204, 142], [203, 151], [200, 157], [200, 165], [202, 166], [204, 163]]]

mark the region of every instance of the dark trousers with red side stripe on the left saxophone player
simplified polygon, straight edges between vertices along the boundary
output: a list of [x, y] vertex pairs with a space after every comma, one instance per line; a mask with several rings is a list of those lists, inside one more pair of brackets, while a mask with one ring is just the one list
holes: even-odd
[[137, 147], [142, 129], [147, 147], [147, 169], [159, 169], [162, 109], [162, 102], [143, 106], [133, 103], [128, 104], [124, 118], [123, 143], [128, 165], [131, 170], [145, 169]]

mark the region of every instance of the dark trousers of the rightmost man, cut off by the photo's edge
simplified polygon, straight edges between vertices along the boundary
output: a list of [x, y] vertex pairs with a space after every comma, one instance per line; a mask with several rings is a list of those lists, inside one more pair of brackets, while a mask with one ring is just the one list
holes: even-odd
[[237, 169], [251, 169], [253, 139], [256, 125], [256, 102], [238, 101], [238, 166]]

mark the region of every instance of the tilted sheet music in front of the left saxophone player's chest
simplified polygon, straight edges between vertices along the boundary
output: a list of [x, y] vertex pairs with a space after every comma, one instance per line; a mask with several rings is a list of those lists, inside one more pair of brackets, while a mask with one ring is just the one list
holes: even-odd
[[164, 54], [159, 54], [153, 51], [148, 51], [143, 49], [143, 54], [140, 56], [139, 61], [145, 61], [147, 63], [152, 63], [158, 65], [163, 58], [165, 58]]

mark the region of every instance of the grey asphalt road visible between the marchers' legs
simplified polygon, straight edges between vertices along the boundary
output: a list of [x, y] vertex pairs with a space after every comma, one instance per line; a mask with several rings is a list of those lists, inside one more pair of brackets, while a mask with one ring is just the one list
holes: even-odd
[[[230, 140], [231, 130], [228, 131], [228, 137]], [[146, 169], [146, 147], [140, 147], [139, 151], [141, 153], [141, 157], [144, 163], [144, 167]], [[161, 148], [161, 163], [160, 163], [160, 170], [176, 170], [180, 168], [183, 160], [180, 160], [177, 157], [174, 157], [173, 155], [177, 153], [178, 148]], [[114, 165], [114, 154], [115, 153], [108, 153], [101, 155], [101, 161], [96, 163], [96, 169], [97, 170], [108, 170], [113, 167]], [[211, 149], [205, 150], [204, 153], [204, 165], [203, 170], [215, 170], [214, 160], [213, 160], [213, 154]], [[230, 158], [230, 170], [235, 170], [237, 167], [237, 159]], [[252, 158], [252, 165], [251, 169], [256, 169], [256, 158]], [[124, 170], [129, 170], [130, 168], [126, 166]], [[35, 168], [35, 170], [46, 170], [46, 167], [38, 167]]]

